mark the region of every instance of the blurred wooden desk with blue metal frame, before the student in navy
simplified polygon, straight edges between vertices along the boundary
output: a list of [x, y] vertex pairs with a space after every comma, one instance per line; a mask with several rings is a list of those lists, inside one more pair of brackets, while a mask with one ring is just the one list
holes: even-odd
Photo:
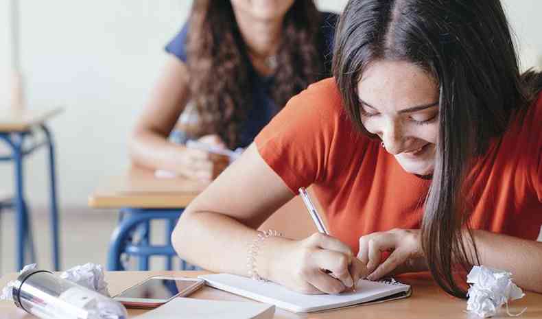
[[[149, 269], [150, 256], [166, 257], [165, 269], [172, 270], [172, 257], [176, 256], [170, 235], [178, 216], [185, 207], [207, 187], [208, 183], [186, 178], [156, 178], [154, 172], [132, 167], [125, 174], [109, 178], [89, 197], [89, 206], [99, 209], [119, 209], [119, 225], [111, 237], [108, 252], [108, 270], [123, 270], [121, 255], [139, 258], [139, 270]], [[150, 243], [150, 222], [166, 220], [166, 243]], [[141, 240], [134, 243], [137, 231]], [[187, 268], [184, 261], [181, 268]]]

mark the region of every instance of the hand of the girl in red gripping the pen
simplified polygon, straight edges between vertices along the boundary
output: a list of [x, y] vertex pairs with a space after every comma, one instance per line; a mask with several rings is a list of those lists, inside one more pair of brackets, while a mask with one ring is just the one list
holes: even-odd
[[365, 265], [354, 257], [350, 247], [334, 237], [314, 233], [289, 245], [291, 249], [277, 263], [277, 273], [279, 283], [291, 290], [338, 294], [367, 274]]

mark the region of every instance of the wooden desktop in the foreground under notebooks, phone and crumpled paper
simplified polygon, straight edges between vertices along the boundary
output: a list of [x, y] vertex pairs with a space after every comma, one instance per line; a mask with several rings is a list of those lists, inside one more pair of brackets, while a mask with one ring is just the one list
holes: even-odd
[[[106, 272], [106, 281], [109, 283], [109, 292], [115, 295], [122, 290], [130, 287], [134, 283], [143, 281], [149, 276], [168, 275], [168, 276], [190, 276], [195, 277], [198, 274], [207, 272]], [[0, 279], [0, 287], [5, 283], [16, 278], [16, 274], [8, 274]], [[404, 283], [412, 285], [412, 296], [402, 300], [394, 300], [376, 305], [366, 305], [326, 311], [314, 314], [293, 314], [291, 312], [276, 309], [274, 318], [364, 318], [364, 319], [383, 319], [383, 318], [405, 318], [405, 319], [424, 319], [424, 318], [478, 318], [472, 314], [466, 314], [464, 309], [467, 302], [458, 298], [453, 298], [445, 294], [438, 288], [427, 274], [410, 274], [399, 276], [398, 279]], [[215, 290], [211, 287], [204, 287], [202, 290], [192, 295], [193, 298], [211, 299], [211, 300], [247, 300], [246, 298], [235, 296], [227, 292]], [[524, 307], [527, 311], [521, 315], [522, 319], [542, 318], [542, 294], [526, 292], [526, 296], [520, 300], [512, 302], [510, 312], [517, 313]], [[130, 318], [138, 314], [143, 314], [145, 310], [128, 309]], [[35, 318], [26, 314], [23, 310], [17, 309], [12, 302], [0, 301], [0, 319], [30, 319]], [[509, 318], [506, 310], [499, 312], [497, 318]]]

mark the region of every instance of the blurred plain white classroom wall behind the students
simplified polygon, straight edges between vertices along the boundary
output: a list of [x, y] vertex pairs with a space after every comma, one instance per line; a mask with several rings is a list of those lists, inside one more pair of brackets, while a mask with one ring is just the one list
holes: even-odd
[[[62, 206], [84, 206], [97, 183], [128, 166], [126, 139], [164, 61], [163, 46], [188, 14], [182, 0], [19, 0], [22, 65], [30, 108], [64, 106], [51, 121]], [[220, 0], [224, 1], [224, 0]], [[521, 43], [542, 52], [542, 1], [504, 1]], [[340, 11], [346, 0], [319, 0]], [[0, 108], [8, 96], [9, 1], [0, 0]], [[534, 63], [537, 58], [529, 58]], [[45, 154], [26, 162], [27, 196], [47, 203]], [[0, 165], [0, 190], [12, 167]]]

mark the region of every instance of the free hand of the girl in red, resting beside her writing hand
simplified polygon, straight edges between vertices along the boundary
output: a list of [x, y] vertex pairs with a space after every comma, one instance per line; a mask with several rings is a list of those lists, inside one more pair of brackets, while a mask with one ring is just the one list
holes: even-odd
[[[390, 255], [381, 263], [382, 252], [390, 252]], [[369, 280], [378, 280], [390, 273], [427, 270], [419, 229], [395, 228], [362, 236], [357, 258], [367, 265]]]

